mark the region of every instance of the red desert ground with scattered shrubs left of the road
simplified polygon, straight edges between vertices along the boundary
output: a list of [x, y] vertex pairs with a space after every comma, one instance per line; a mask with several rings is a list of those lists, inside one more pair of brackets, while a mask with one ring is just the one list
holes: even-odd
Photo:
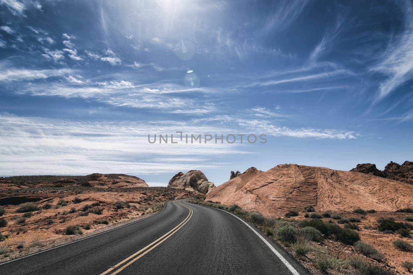
[[[90, 185], [85, 186], [83, 182], [89, 182]], [[0, 261], [73, 239], [73, 235], [65, 234], [65, 228], [69, 225], [80, 226], [84, 234], [100, 232], [108, 226], [146, 217], [161, 209], [161, 203], [168, 200], [192, 198], [194, 195], [199, 193], [168, 187], [147, 187], [142, 179], [123, 174], [0, 178], [0, 207], [6, 210], [0, 219], [7, 221], [5, 227], [0, 227], [0, 233], [3, 237], [9, 236], [0, 241], [0, 248], [5, 246], [10, 249], [8, 258], [3, 254]], [[80, 198], [81, 202], [75, 203], [75, 197]], [[117, 207], [118, 201], [125, 204]], [[32, 211], [32, 215], [22, 221], [25, 213], [16, 210], [19, 204], [27, 202], [34, 203], [39, 209]], [[50, 204], [50, 208], [45, 207], [46, 203]], [[18, 218], [21, 223], [18, 223]], [[101, 224], [100, 219], [107, 219], [109, 225]], [[87, 224], [90, 224], [90, 229], [86, 229]], [[24, 248], [18, 249], [17, 245], [21, 242]]]

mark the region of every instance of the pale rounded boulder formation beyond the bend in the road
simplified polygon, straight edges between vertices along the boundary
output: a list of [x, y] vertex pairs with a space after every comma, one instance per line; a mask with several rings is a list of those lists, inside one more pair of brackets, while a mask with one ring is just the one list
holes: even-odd
[[179, 172], [171, 178], [168, 187], [195, 190], [202, 194], [209, 193], [214, 187], [214, 182], [209, 182], [200, 170], [190, 170], [186, 174]]

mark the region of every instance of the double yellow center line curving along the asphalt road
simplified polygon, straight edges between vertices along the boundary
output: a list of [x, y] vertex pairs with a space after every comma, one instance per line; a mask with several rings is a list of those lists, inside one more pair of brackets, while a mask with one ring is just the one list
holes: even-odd
[[[182, 205], [180, 203], [178, 203], [179, 205]], [[150, 252], [152, 249], [154, 249], [155, 247], [157, 247], [158, 245], [160, 245], [162, 242], [164, 242], [166, 239], [168, 239], [169, 237], [171, 237], [173, 234], [176, 233], [176, 231], [178, 231], [180, 228], [182, 228], [182, 226], [184, 226], [192, 217], [192, 209], [190, 209], [189, 207], [186, 207], [185, 205], [182, 205], [185, 208], [189, 209], [189, 214], [188, 216], [181, 221], [180, 224], [178, 224], [177, 226], [175, 226], [174, 228], [171, 229], [171, 231], [167, 232], [165, 235], [163, 235], [161, 238], [155, 240], [154, 242], [150, 243], [149, 245], [145, 246], [144, 248], [140, 249], [138, 252], [132, 254], [131, 256], [129, 256], [128, 258], [124, 259], [123, 261], [117, 263], [114, 266], [111, 266], [108, 270], [106, 270], [103, 273], [100, 273], [100, 275], [106, 275], [106, 274], [110, 274], [110, 275], [115, 275], [118, 274], [119, 272], [121, 272], [123, 269], [125, 269], [126, 267], [130, 266], [133, 262], [137, 261], [138, 259], [140, 259], [140, 257], [142, 257], [143, 255], [147, 254], [148, 252]], [[172, 232], [172, 233], [171, 233]], [[143, 253], [142, 253], [143, 252]], [[117, 269], [116, 269], [117, 268]], [[116, 270], [115, 270], [116, 269]], [[112, 272], [112, 270], [115, 270], [114, 272]], [[111, 273], [112, 272], [112, 273]]]

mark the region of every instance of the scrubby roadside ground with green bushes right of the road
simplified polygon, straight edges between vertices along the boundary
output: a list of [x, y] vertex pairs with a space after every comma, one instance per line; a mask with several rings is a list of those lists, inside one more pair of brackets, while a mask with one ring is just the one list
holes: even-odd
[[[314, 207], [311, 207], [313, 209], [305, 207], [301, 214], [291, 210], [282, 218], [266, 217], [257, 211], [248, 212], [238, 205], [204, 201], [202, 197], [188, 201], [222, 209], [250, 221], [299, 259], [314, 274], [395, 274], [394, 266], [388, 263], [390, 259], [387, 259], [386, 255], [374, 245], [363, 240], [363, 236], [366, 236], [364, 231], [367, 229], [361, 228], [359, 224], [363, 220], [369, 220], [366, 215], [378, 214], [375, 210], [365, 211], [356, 208], [349, 213], [338, 214], [325, 211], [318, 214]], [[365, 225], [369, 231], [384, 234], [383, 231], [391, 230], [390, 234], [394, 237], [398, 234], [402, 238], [408, 238], [409, 229], [403, 232], [397, 231], [409, 228], [408, 224], [396, 222], [392, 217], [379, 217], [378, 219], [372, 217], [372, 219], [373, 225]], [[404, 236], [401, 235], [402, 233]], [[406, 240], [389, 241], [387, 246], [389, 245], [404, 254], [413, 255], [411, 253], [413, 246]], [[413, 268], [412, 264], [411, 261], [401, 261], [399, 266], [404, 271], [408, 271], [408, 268]], [[312, 268], [316, 269], [312, 270]]]

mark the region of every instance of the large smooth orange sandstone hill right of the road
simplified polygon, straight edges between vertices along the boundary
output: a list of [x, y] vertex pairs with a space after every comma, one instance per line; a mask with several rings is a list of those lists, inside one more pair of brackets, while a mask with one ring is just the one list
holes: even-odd
[[252, 167], [214, 188], [206, 200], [237, 204], [248, 211], [280, 216], [313, 206], [318, 212], [358, 207], [395, 211], [413, 207], [410, 184], [373, 175], [297, 164], [280, 164], [263, 172]]

